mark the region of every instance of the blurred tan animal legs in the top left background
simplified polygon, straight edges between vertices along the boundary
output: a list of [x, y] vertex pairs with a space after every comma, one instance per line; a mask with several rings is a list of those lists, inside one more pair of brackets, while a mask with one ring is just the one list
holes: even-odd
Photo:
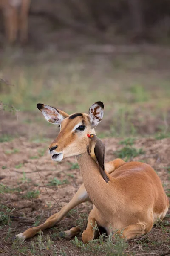
[[20, 32], [20, 41], [25, 43], [28, 38], [28, 10], [31, 0], [0, 0], [3, 11], [6, 39], [14, 43]]

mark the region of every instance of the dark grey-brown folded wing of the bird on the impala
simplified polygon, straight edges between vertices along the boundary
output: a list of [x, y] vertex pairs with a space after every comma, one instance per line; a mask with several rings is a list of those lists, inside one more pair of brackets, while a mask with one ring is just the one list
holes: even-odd
[[105, 170], [105, 146], [99, 139], [96, 142], [94, 154], [97, 158], [99, 165], [102, 167], [103, 170]]

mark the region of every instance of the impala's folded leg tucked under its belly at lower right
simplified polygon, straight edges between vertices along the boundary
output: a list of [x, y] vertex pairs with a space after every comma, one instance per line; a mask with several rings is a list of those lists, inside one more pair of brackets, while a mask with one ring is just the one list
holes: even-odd
[[[141, 222], [134, 223], [125, 227], [122, 230], [118, 230], [115, 234], [119, 234], [119, 236], [124, 239], [131, 239], [136, 236], [142, 236], [148, 233], [151, 230], [152, 226], [153, 226], [153, 222], [150, 223], [148, 227], [146, 227], [146, 225]], [[113, 235], [113, 238], [115, 234]]]

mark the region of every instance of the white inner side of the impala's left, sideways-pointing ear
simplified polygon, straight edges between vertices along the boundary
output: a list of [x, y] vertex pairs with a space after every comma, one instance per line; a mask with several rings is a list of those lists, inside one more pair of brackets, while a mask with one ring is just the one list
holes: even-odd
[[45, 119], [54, 125], [60, 125], [61, 122], [64, 120], [64, 117], [59, 114], [55, 108], [52, 108], [48, 105], [44, 105], [41, 112], [45, 116]]

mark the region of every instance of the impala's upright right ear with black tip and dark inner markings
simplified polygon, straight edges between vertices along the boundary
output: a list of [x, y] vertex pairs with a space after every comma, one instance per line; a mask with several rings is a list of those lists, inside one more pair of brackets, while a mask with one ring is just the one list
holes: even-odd
[[89, 109], [91, 127], [95, 128], [103, 118], [103, 102], [95, 102]]

